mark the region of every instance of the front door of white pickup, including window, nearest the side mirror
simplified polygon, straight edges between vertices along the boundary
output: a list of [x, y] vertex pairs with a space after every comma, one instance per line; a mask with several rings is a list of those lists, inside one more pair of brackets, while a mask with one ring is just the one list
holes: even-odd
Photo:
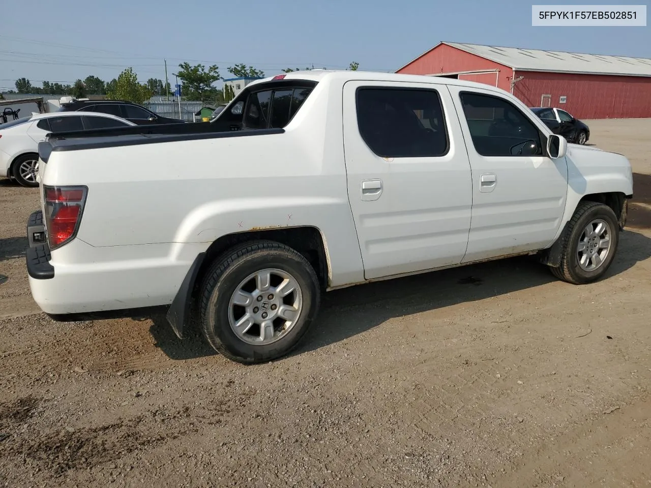
[[482, 88], [449, 90], [473, 169], [464, 262], [546, 247], [565, 210], [566, 159], [546, 156], [542, 121], [521, 103]]

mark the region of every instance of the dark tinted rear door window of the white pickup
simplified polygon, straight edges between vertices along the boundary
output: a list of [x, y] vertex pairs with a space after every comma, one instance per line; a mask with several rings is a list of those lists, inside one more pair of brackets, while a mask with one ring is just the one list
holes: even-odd
[[359, 88], [357, 126], [368, 148], [381, 157], [436, 157], [448, 152], [436, 90]]

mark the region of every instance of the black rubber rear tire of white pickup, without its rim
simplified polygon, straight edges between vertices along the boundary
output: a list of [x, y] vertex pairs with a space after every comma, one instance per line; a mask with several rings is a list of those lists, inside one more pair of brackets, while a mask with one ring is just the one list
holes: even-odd
[[[230, 325], [229, 303], [240, 282], [262, 269], [279, 269], [291, 275], [300, 287], [302, 308], [284, 336], [271, 344], [249, 344]], [[320, 304], [319, 280], [312, 265], [299, 252], [272, 241], [247, 243], [219, 256], [208, 269], [200, 293], [204, 337], [215, 351], [243, 364], [270, 361], [292, 351], [309, 329]]]

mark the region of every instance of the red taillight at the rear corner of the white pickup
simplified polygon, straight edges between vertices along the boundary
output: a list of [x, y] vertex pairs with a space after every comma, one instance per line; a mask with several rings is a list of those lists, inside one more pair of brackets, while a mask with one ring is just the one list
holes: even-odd
[[86, 187], [44, 186], [46, 229], [50, 249], [61, 247], [74, 239], [83, 206], [86, 202]]

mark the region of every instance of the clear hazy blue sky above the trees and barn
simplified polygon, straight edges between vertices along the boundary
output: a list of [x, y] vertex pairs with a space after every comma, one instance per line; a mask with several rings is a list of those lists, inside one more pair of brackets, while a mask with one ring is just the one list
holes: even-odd
[[352, 61], [393, 72], [440, 41], [651, 58], [649, 26], [532, 27], [522, 0], [0, 0], [0, 25], [0, 90], [20, 77], [109, 81], [129, 66], [164, 80], [165, 59], [172, 85], [183, 61], [225, 78], [238, 62], [266, 75]]

